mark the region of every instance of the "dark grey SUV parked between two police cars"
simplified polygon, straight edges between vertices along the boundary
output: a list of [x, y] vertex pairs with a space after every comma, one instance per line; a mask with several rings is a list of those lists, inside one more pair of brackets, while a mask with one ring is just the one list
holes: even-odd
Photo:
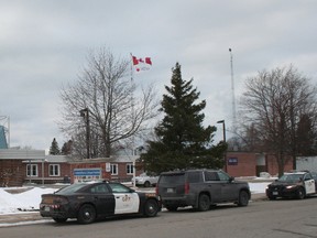
[[247, 182], [234, 181], [221, 170], [164, 172], [156, 184], [156, 194], [168, 210], [193, 206], [204, 212], [218, 203], [248, 206], [251, 197]]

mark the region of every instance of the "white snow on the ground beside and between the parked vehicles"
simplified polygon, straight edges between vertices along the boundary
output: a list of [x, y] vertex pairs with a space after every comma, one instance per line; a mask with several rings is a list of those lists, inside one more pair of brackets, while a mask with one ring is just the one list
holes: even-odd
[[[265, 187], [270, 182], [249, 183], [252, 194], [265, 193]], [[25, 187], [23, 187], [25, 188]], [[56, 188], [29, 187], [23, 193], [12, 194], [8, 190], [17, 190], [17, 187], [0, 187], [0, 215], [23, 213], [25, 210], [36, 210], [41, 203], [41, 195], [53, 193]]]

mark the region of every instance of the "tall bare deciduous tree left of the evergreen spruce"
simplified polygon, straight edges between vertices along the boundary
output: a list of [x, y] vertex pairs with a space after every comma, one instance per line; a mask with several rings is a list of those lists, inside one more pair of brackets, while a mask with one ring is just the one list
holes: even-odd
[[129, 60], [109, 50], [91, 51], [78, 80], [62, 88], [59, 126], [77, 156], [85, 158], [86, 150], [88, 156], [110, 156], [119, 142], [140, 133], [157, 115], [153, 87], [138, 90], [130, 69]]

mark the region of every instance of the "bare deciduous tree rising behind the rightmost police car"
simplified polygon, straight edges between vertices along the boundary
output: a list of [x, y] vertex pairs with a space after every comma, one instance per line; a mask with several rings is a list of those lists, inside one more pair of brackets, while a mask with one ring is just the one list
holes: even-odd
[[[316, 131], [316, 93], [308, 78], [292, 65], [260, 72], [247, 80], [247, 90], [241, 100], [241, 115], [249, 125], [244, 125], [244, 128], [252, 128], [253, 136], [256, 136], [256, 140], [253, 138], [252, 141], [258, 142], [258, 149], [262, 148], [276, 156], [280, 175], [289, 156], [296, 169], [296, 154], [302, 143], [299, 139]], [[309, 121], [310, 127], [300, 127], [303, 118]]]

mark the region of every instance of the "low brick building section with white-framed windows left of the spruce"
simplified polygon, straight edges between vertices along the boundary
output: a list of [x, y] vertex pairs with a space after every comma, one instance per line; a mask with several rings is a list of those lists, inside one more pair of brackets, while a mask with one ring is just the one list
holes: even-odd
[[0, 186], [24, 183], [54, 184], [89, 180], [131, 181], [139, 155], [73, 160], [65, 155], [45, 155], [43, 150], [0, 150]]

